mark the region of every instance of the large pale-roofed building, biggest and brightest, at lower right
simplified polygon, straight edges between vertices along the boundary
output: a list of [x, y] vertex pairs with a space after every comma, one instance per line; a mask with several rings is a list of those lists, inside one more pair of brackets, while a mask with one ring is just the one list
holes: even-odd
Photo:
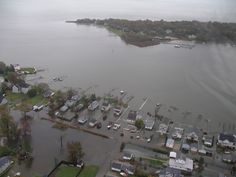
[[193, 171], [193, 160], [190, 158], [170, 158], [169, 167], [191, 174]]

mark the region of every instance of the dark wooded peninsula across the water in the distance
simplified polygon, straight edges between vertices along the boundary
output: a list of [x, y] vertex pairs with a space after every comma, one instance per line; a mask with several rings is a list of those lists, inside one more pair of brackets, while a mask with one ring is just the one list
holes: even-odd
[[236, 23], [88, 18], [66, 22], [105, 27], [127, 44], [138, 47], [153, 46], [173, 40], [236, 44]]

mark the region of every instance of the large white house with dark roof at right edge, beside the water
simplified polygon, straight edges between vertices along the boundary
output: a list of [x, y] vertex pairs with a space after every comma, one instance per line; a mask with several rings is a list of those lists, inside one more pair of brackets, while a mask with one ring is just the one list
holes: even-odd
[[236, 148], [236, 135], [220, 133], [217, 138], [217, 145], [223, 148]]

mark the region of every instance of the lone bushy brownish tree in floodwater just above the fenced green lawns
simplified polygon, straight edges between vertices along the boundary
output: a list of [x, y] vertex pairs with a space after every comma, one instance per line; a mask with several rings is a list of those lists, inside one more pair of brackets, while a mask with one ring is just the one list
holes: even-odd
[[76, 163], [78, 159], [81, 159], [84, 156], [80, 142], [72, 141], [70, 143], [67, 143], [67, 150], [68, 160], [72, 163]]

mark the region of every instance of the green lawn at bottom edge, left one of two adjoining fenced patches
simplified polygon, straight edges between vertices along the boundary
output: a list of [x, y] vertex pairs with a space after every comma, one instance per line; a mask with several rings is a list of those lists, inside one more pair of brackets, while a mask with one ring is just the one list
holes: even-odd
[[76, 177], [80, 168], [62, 165], [59, 167], [55, 177]]

